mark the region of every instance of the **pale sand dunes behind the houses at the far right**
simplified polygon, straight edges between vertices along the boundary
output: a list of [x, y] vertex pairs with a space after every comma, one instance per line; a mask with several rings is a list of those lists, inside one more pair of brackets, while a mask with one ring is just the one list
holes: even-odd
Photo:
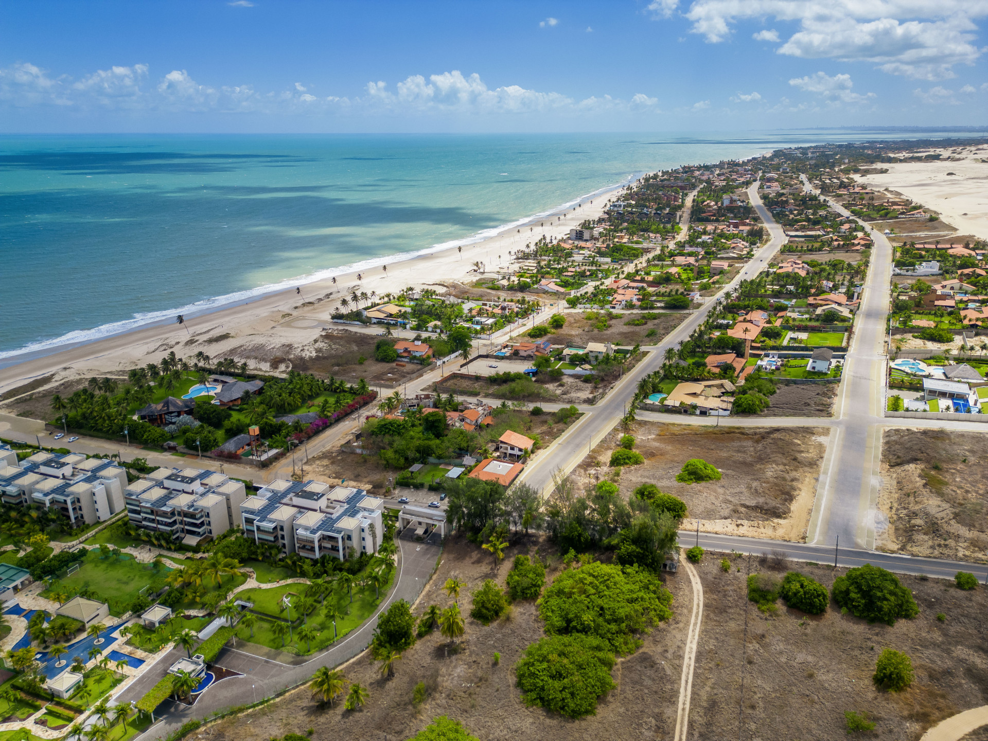
[[988, 146], [930, 149], [923, 153], [942, 157], [883, 164], [887, 173], [860, 179], [872, 188], [890, 188], [933, 208], [958, 234], [988, 239], [988, 161], [984, 161], [988, 160]]

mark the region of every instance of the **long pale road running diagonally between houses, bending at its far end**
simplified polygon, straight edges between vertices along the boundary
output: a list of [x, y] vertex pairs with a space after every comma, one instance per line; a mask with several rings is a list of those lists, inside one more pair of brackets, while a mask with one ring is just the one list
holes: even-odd
[[[583, 456], [593, 450], [593, 447], [600, 443], [617, 425], [626, 413], [626, 404], [634, 395], [638, 381], [648, 373], [659, 371], [662, 368], [663, 355], [666, 349], [676, 347], [679, 343], [689, 339], [691, 333], [703, 322], [706, 314], [718, 298], [732, 291], [742, 280], [750, 280], [765, 270], [769, 260], [782, 246], [785, 236], [782, 233], [782, 227], [773, 220], [765, 206], [762, 206], [758, 197], [758, 183], [755, 183], [748, 190], [748, 196], [772, 236], [769, 242], [758, 250], [751, 262], [733, 281], [721, 288], [713, 298], [706, 302], [703, 308], [691, 314], [679, 327], [673, 330], [662, 344], [656, 346], [654, 352], [649, 353], [643, 361], [618, 381], [604, 399], [598, 401], [593, 407], [586, 407], [591, 411], [584, 414], [562, 437], [553, 442], [548, 450], [539, 454], [526, 467], [522, 472], [522, 481], [534, 486], [543, 495], [547, 494], [552, 485], [552, 476], [556, 471], [566, 474], [573, 470], [577, 463], [583, 459]], [[689, 229], [689, 222], [684, 233], [687, 229]]]

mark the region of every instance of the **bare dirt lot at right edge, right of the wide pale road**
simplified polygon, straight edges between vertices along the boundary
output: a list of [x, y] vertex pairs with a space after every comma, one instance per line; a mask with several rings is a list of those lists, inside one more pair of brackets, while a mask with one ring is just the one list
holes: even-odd
[[985, 562], [988, 435], [886, 430], [882, 438], [881, 550]]

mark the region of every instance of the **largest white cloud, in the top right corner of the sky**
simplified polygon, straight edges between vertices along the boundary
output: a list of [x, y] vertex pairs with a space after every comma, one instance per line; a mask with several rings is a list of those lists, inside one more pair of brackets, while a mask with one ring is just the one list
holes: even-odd
[[[675, 0], [649, 6], [659, 15], [665, 7], [675, 8]], [[726, 40], [740, 20], [772, 17], [799, 25], [780, 54], [871, 62], [889, 74], [928, 80], [952, 77], [954, 65], [980, 57], [974, 20], [986, 15], [988, 0], [694, 0], [685, 13], [693, 33], [711, 43]]]

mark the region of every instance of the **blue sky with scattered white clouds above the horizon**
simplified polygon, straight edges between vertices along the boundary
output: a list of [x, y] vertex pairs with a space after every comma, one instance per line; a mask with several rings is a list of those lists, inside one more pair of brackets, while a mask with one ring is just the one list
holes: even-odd
[[988, 124], [988, 0], [0, 2], [0, 130]]

